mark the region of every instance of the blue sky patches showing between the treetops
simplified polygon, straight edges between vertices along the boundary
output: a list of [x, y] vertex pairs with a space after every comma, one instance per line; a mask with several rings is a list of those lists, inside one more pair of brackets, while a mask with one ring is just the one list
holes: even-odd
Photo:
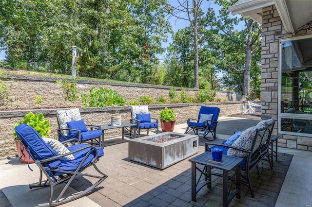
[[[169, 0], [169, 2], [174, 6], [179, 5], [177, 0]], [[207, 12], [208, 8], [210, 8], [210, 7], [214, 8], [216, 13], [220, 9], [220, 6], [214, 4], [214, 0], [203, 0], [202, 1], [201, 8], [205, 13]], [[170, 21], [171, 21], [172, 29], [174, 32], [177, 32], [179, 29], [185, 28], [186, 26], [189, 25], [188, 21], [185, 21], [182, 19], [176, 19], [175, 17], [172, 17], [170, 19]], [[242, 24], [238, 25], [236, 29], [241, 30], [241, 29], [243, 29], [243, 27], [244, 27], [244, 25], [242, 23]], [[162, 44], [162, 47], [164, 47], [164, 48], [168, 47], [170, 42], [172, 42], [171, 35], [168, 38], [168, 42], [164, 42]], [[161, 58], [161, 56], [162, 55], [159, 55], [158, 58]], [[0, 60], [4, 60], [4, 58], [5, 58], [5, 51], [1, 51], [0, 52]]]

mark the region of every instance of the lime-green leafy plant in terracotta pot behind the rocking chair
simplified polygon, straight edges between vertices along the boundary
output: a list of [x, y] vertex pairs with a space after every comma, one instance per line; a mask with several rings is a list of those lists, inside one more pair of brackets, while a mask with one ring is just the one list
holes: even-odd
[[[38, 134], [41, 137], [48, 137], [50, 134], [50, 121], [49, 120], [44, 120], [43, 114], [34, 114], [33, 112], [29, 112], [24, 116], [23, 121], [18, 121], [18, 123], [14, 126], [14, 128], [21, 123], [25, 123], [31, 127], [33, 127]], [[16, 147], [18, 149], [20, 161], [22, 163], [28, 163], [28, 157], [29, 154], [27, 152], [27, 149], [24, 149], [23, 145], [21, 144], [20, 140], [16, 136], [16, 132], [14, 130], [14, 136], [15, 136], [15, 143]], [[34, 160], [32, 158], [29, 159], [29, 163], [34, 163]]]

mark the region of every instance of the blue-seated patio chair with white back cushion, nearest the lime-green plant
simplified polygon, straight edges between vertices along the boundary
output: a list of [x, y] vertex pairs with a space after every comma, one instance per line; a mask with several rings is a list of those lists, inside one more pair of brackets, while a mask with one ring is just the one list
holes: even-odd
[[[93, 125], [86, 125], [84, 120], [80, 117], [78, 108], [58, 110], [58, 137], [59, 141], [65, 141], [68, 139], [76, 138], [81, 143], [95, 144], [102, 147], [101, 137], [103, 132], [98, 127]], [[90, 128], [90, 130], [87, 128]], [[96, 130], [94, 130], [96, 129]]]

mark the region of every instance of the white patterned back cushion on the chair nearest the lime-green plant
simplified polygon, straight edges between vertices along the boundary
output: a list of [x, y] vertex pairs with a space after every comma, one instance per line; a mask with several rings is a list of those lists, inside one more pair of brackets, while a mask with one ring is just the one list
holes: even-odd
[[[59, 120], [60, 128], [66, 129], [67, 122], [69, 121], [79, 121], [81, 120], [80, 112], [78, 108], [69, 110], [59, 110], [57, 111], [57, 117]], [[65, 136], [69, 135], [69, 130], [63, 132]]]

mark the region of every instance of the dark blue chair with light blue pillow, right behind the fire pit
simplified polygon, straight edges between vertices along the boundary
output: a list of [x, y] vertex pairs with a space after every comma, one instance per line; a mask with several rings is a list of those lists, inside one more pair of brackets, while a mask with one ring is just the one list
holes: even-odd
[[[192, 130], [195, 135], [198, 135], [198, 130], [204, 131], [203, 138], [207, 140], [215, 140], [216, 137], [216, 127], [218, 124], [218, 117], [220, 114], [220, 108], [201, 106], [197, 121], [195, 119], [187, 120], [187, 128], [184, 134], [188, 134]], [[196, 122], [192, 122], [192, 120]], [[211, 133], [213, 138], [207, 138], [207, 135]]]

